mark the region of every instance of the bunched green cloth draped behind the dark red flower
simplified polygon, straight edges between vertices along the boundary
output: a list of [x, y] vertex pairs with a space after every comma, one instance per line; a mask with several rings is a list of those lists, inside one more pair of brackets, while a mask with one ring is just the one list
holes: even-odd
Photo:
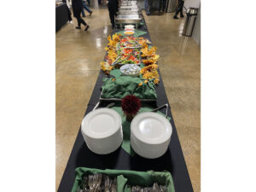
[[140, 99], [156, 99], [156, 92], [153, 81], [142, 84], [143, 79], [130, 76], [119, 76], [113, 79], [103, 79], [102, 98], [124, 98], [128, 95], [137, 96]]

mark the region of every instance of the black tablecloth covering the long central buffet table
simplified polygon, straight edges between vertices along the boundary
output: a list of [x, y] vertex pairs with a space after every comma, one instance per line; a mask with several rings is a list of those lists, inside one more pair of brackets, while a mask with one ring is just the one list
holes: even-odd
[[[148, 32], [146, 24], [142, 26], [139, 30]], [[114, 30], [113, 33], [119, 32], [120, 30]], [[148, 38], [151, 41], [148, 33], [144, 34], [144, 38]], [[160, 71], [159, 71], [160, 73]], [[90, 111], [99, 102], [101, 95], [102, 79], [106, 77], [104, 73], [101, 72], [96, 80], [95, 88], [90, 97], [90, 102], [88, 103], [87, 109], [85, 111], [90, 113]], [[157, 106], [168, 103], [166, 96], [166, 90], [160, 75], [160, 84], [156, 86], [157, 93]], [[169, 105], [170, 106], [170, 105]], [[165, 113], [166, 109], [160, 110]], [[70, 154], [69, 160], [67, 161], [67, 167], [63, 176], [61, 178], [61, 183], [58, 192], [70, 192], [74, 179], [75, 179], [75, 169], [77, 167], [89, 167], [97, 169], [118, 169], [118, 170], [132, 170], [146, 172], [148, 170], [153, 170], [156, 172], [162, 172], [164, 170], [172, 173], [172, 178], [175, 186], [176, 192], [193, 192], [192, 184], [189, 178], [189, 172], [183, 157], [183, 151], [177, 137], [177, 130], [172, 118], [171, 108], [168, 108], [168, 116], [171, 117], [172, 124], [172, 137], [169, 144], [169, 148], [166, 154], [158, 159], [148, 160], [139, 155], [131, 157], [127, 154], [123, 148], [117, 149], [112, 154], [94, 154], [87, 148], [84, 138], [79, 130], [76, 141], [73, 145], [73, 150]]]

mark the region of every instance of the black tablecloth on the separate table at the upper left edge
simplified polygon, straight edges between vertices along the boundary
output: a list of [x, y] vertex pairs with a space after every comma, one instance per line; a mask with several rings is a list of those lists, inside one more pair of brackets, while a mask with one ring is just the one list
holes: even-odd
[[56, 6], [55, 10], [55, 32], [61, 29], [68, 21], [67, 3]]

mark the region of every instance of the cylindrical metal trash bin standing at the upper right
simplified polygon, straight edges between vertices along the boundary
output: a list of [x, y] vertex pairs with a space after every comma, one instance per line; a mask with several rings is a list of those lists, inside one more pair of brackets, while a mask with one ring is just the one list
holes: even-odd
[[186, 12], [187, 18], [185, 25], [183, 26], [183, 36], [191, 37], [195, 26], [195, 20], [197, 16], [197, 8], [189, 8]]

